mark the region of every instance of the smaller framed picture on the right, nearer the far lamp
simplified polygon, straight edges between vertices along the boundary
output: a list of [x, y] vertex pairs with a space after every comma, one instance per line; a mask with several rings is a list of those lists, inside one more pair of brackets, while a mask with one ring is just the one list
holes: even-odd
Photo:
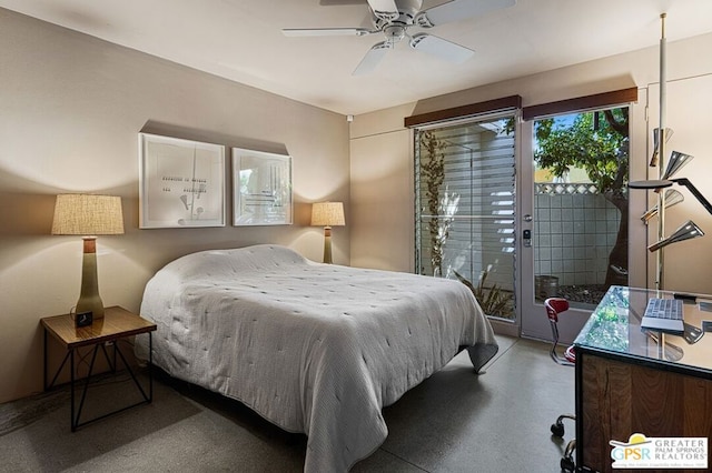
[[291, 224], [291, 157], [233, 148], [233, 224]]

